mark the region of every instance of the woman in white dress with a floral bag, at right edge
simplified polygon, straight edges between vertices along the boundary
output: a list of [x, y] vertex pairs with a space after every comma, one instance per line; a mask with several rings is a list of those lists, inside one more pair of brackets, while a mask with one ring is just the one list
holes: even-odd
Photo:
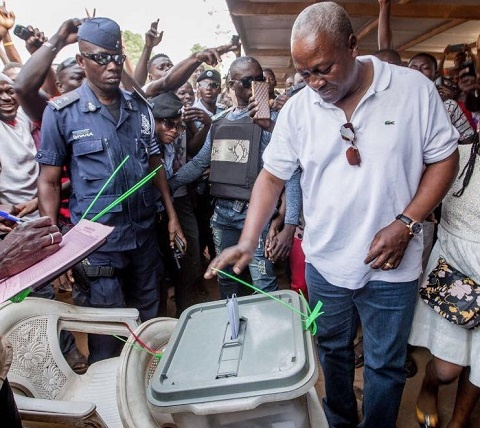
[[[477, 130], [478, 131], [478, 130]], [[478, 132], [472, 143], [459, 144], [460, 174], [442, 205], [438, 240], [425, 270], [439, 257], [480, 284], [480, 159]], [[480, 302], [479, 302], [480, 304]], [[422, 427], [439, 427], [438, 389], [459, 378], [448, 428], [465, 427], [480, 397], [480, 327], [466, 329], [447, 321], [419, 299], [410, 334], [411, 345], [433, 355], [425, 368], [417, 400]]]

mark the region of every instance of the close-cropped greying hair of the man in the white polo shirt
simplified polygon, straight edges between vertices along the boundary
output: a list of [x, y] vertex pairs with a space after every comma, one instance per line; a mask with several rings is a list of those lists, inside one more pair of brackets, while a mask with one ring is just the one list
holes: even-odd
[[315, 3], [298, 15], [292, 28], [291, 44], [327, 35], [339, 47], [348, 45], [352, 22], [345, 9], [333, 2]]

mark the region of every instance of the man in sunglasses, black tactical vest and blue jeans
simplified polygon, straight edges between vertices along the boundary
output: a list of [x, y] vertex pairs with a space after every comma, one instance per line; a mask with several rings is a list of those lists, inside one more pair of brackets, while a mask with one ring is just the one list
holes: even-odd
[[[262, 168], [262, 154], [270, 142], [277, 112], [270, 119], [252, 119], [256, 103], [252, 81], [264, 81], [262, 67], [251, 57], [239, 57], [231, 65], [228, 85], [235, 91], [238, 106], [214, 121], [198, 155], [170, 179], [173, 189], [190, 183], [210, 167], [210, 193], [215, 198], [211, 220], [217, 254], [238, 242], [247, 214], [248, 201], [257, 175]], [[250, 100], [251, 101], [251, 100]], [[286, 223], [297, 224], [301, 205], [299, 175], [286, 184]], [[264, 291], [277, 288], [273, 263], [265, 256], [266, 227], [249, 265], [253, 284]], [[237, 283], [219, 278], [222, 298], [237, 292]]]

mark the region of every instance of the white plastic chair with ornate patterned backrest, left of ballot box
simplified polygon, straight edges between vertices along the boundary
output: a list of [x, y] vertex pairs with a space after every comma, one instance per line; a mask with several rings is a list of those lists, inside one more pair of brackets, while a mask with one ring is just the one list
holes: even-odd
[[28, 427], [122, 427], [115, 384], [119, 358], [92, 364], [76, 374], [62, 355], [61, 330], [130, 335], [136, 309], [98, 309], [27, 298], [0, 305], [0, 336], [12, 344], [8, 374], [15, 401]]

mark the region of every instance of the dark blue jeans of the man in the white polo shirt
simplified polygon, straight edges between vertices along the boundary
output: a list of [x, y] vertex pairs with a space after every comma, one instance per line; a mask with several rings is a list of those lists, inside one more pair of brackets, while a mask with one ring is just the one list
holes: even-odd
[[[312, 308], [318, 300], [317, 347], [325, 376], [323, 407], [331, 428], [394, 428], [406, 380], [407, 339], [418, 293], [418, 281], [370, 281], [349, 290], [328, 283], [307, 263]], [[365, 356], [363, 421], [358, 424], [353, 392], [353, 340], [358, 321]]]

